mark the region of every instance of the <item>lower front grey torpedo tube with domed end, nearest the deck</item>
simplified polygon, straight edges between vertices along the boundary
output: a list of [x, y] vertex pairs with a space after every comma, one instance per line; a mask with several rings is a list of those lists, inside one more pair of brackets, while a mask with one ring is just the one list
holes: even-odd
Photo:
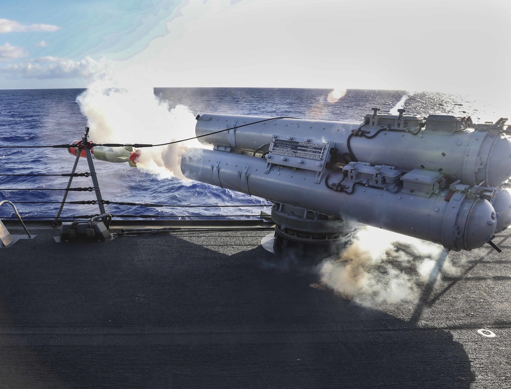
[[[310, 157], [315, 158], [315, 149], [309, 150]], [[281, 161], [289, 162], [288, 157]], [[307, 167], [303, 159], [296, 163]], [[393, 167], [352, 163], [346, 173], [325, 175], [319, 165], [316, 162], [315, 171], [313, 167], [296, 168], [272, 164], [263, 158], [202, 149], [190, 149], [181, 158], [181, 171], [192, 180], [380, 227], [456, 251], [478, 248], [490, 241], [496, 231], [492, 204], [471, 196], [467, 185], [458, 185], [455, 190], [439, 189], [441, 174], [426, 174], [425, 182], [430, 180], [431, 187], [436, 188], [433, 193], [413, 186], [423, 174], [421, 171], [400, 178], [401, 172]], [[381, 172], [385, 172], [384, 179], [379, 176]], [[359, 178], [364, 175], [373, 175], [379, 181], [375, 185], [362, 183]], [[341, 187], [341, 191], [331, 190]]]

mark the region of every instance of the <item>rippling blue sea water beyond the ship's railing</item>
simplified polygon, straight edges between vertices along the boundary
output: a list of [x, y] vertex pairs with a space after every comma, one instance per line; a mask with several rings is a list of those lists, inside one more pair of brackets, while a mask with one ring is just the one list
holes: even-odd
[[[36, 176], [65, 174], [72, 171], [75, 158], [66, 149], [28, 148], [34, 145], [54, 145], [81, 139], [87, 124], [76, 102], [84, 89], [0, 90], [0, 201], [16, 204], [23, 218], [53, 219], [62, 201], [67, 177]], [[404, 96], [404, 108], [409, 114], [427, 116], [449, 113], [471, 115], [479, 119], [474, 101], [459, 95], [431, 92], [407, 93], [400, 90], [347, 90], [337, 102], [329, 103], [327, 89], [271, 88], [155, 88], [157, 98], [169, 108], [189, 107], [191, 112], [221, 112], [261, 116], [292, 116], [307, 119], [352, 121], [360, 123], [371, 108], [389, 112]], [[143, 132], [141, 132], [143, 134]], [[94, 141], [94, 139], [90, 139]], [[170, 140], [170, 139], [169, 139]], [[119, 142], [124, 142], [119, 139]], [[141, 138], [140, 143], [147, 143]], [[4, 148], [22, 146], [22, 148]], [[203, 183], [183, 185], [178, 179], [157, 179], [155, 176], [130, 168], [127, 164], [95, 161], [103, 199], [111, 202], [153, 203], [165, 207], [107, 204], [106, 211], [115, 216], [151, 215], [153, 217], [188, 218], [193, 215], [258, 215], [269, 207], [247, 207], [268, 204]], [[87, 172], [81, 159], [77, 172]], [[9, 176], [25, 174], [33, 176]], [[90, 178], [74, 178], [71, 187], [91, 187]], [[59, 190], [36, 190], [59, 189]], [[94, 192], [70, 192], [67, 201], [95, 200]], [[236, 205], [218, 208], [217, 205]], [[192, 207], [193, 206], [193, 207]], [[195, 207], [200, 206], [200, 207]], [[207, 207], [204, 207], [207, 206]], [[62, 216], [92, 215], [97, 205], [66, 204]], [[0, 208], [0, 217], [12, 217], [12, 208]], [[125, 216], [126, 217], [126, 216]]]

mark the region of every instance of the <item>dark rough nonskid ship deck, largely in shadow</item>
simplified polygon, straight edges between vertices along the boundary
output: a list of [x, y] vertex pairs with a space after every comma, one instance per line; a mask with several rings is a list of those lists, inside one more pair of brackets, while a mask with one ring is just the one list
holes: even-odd
[[1, 387], [511, 387], [509, 230], [377, 307], [274, 265], [264, 229], [31, 232], [0, 249]]

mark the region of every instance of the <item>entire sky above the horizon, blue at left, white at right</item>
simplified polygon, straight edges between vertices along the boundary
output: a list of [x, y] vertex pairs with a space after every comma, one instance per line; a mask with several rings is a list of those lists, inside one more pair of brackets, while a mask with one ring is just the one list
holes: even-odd
[[508, 0], [2, 0], [0, 89], [117, 78], [511, 104], [510, 21]]

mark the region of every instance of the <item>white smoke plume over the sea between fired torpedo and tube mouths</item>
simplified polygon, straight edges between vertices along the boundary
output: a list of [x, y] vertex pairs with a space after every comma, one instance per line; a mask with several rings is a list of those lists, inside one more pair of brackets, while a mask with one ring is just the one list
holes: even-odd
[[[190, 110], [169, 107], [154, 95], [152, 85], [140, 74], [125, 68], [98, 76], [78, 96], [78, 104], [87, 117], [90, 140], [95, 143], [160, 144], [195, 136], [195, 119]], [[140, 149], [137, 167], [158, 178], [184, 179], [179, 164], [182, 153], [196, 140]]]

